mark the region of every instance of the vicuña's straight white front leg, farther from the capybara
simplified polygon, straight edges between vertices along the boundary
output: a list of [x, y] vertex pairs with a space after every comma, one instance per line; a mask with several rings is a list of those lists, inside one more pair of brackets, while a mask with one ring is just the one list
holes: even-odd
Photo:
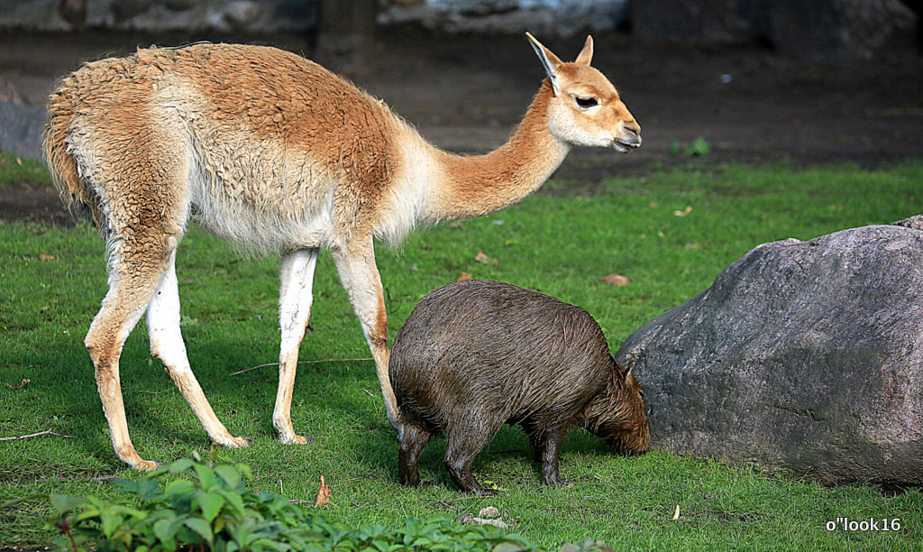
[[279, 270], [279, 330], [282, 345], [279, 352], [279, 390], [272, 411], [272, 425], [279, 440], [286, 445], [305, 444], [306, 438], [295, 435], [292, 426], [292, 394], [298, 369], [298, 349], [305, 338], [307, 321], [311, 317], [314, 295], [314, 269], [318, 263], [317, 249], [303, 249], [282, 258]]

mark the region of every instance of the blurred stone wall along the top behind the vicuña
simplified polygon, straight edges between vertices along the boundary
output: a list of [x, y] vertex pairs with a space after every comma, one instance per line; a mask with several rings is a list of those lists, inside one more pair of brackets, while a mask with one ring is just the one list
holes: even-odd
[[571, 36], [617, 30], [640, 43], [759, 42], [817, 62], [920, 43], [923, 0], [0, 0], [0, 32], [306, 32], [337, 55], [377, 30]]

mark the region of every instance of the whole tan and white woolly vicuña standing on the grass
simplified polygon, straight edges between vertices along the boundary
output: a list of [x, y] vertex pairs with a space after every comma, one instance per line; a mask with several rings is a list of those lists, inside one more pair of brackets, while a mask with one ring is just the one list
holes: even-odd
[[89, 206], [106, 241], [109, 291], [85, 344], [122, 461], [155, 465], [128, 437], [118, 374], [126, 337], [145, 315], [151, 353], [210, 438], [249, 443], [217, 419], [186, 356], [174, 259], [190, 220], [251, 254], [282, 256], [272, 416], [280, 440], [306, 442], [290, 412], [321, 247], [333, 255], [400, 437], [374, 240], [396, 244], [420, 222], [503, 209], [541, 186], [572, 145], [623, 152], [641, 145], [641, 127], [590, 66], [592, 38], [564, 63], [527, 36], [548, 78], [509, 141], [477, 156], [438, 150], [383, 102], [270, 47], [139, 49], [62, 80], [44, 152], [62, 195]]

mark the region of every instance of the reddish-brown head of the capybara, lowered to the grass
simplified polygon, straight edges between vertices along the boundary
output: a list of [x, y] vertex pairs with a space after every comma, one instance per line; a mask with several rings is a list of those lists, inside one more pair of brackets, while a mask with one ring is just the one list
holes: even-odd
[[616, 362], [605, 391], [583, 410], [584, 427], [625, 455], [641, 454], [651, 446], [651, 431], [644, 410], [644, 391], [631, 373]]

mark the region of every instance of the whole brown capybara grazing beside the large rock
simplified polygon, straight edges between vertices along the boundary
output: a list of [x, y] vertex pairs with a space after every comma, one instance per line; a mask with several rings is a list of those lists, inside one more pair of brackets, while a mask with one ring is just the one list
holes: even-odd
[[503, 424], [529, 435], [546, 484], [566, 483], [558, 449], [582, 426], [624, 454], [650, 433], [641, 386], [609, 354], [585, 310], [508, 283], [472, 280], [427, 294], [394, 340], [389, 376], [404, 423], [401, 482], [419, 486], [417, 462], [433, 434], [462, 490], [493, 494], [471, 462]]

